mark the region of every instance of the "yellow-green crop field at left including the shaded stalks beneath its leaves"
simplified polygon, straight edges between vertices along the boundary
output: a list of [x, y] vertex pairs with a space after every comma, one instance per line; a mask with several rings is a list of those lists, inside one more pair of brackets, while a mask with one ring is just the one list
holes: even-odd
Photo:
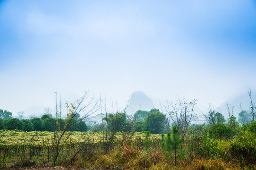
[[[117, 133], [114, 137], [114, 143], [121, 142], [124, 134], [123, 132]], [[54, 135], [56, 133], [47, 131], [0, 130], [1, 165], [5, 167], [22, 165], [27, 163], [27, 161], [34, 164], [51, 162]], [[86, 144], [90, 147], [90, 150], [95, 152], [96, 148], [102, 147], [104, 137], [105, 133], [102, 132], [76, 131], [65, 133], [60, 141], [60, 145], [63, 145], [63, 148], [60, 150], [60, 161], [70, 158], [83, 144]], [[145, 133], [136, 132], [131, 138], [131, 144], [143, 143], [145, 138]], [[152, 134], [150, 139], [159, 143], [161, 135]], [[94, 149], [92, 149], [92, 146], [94, 146]]]

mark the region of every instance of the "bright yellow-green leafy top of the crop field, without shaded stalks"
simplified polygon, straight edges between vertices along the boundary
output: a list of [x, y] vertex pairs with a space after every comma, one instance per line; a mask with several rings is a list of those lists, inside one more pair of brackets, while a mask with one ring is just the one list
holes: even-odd
[[[59, 135], [61, 132], [59, 132]], [[70, 135], [71, 134], [71, 135]], [[70, 135], [70, 136], [69, 136]], [[115, 136], [115, 141], [120, 141], [123, 138], [124, 132], [118, 132]], [[90, 139], [95, 144], [100, 143], [103, 140], [103, 136], [105, 136], [105, 133], [102, 132], [67, 132], [65, 136], [63, 137], [62, 143], [64, 142], [64, 139], [71, 138], [72, 144], [79, 144], [83, 143], [85, 141], [88, 141]], [[22, 145], [25, 147], [29, 146], [42, 146], [43, 141], [44, 145], [51, 146], [52, 141], [54, 137], [54, 132], [39, 132], [39, 131], [33, 131], [33, 132], [23, 132], [19, 130], [0, 130], [0, 149], [1, 148], [16, 148], [17, 144]], [[136, 132], [133, 137], [132, 141], [136, 140], [145, 140], [145, 133], [143, 132]], [[158, 140], [161, 139], [161, 135], [158, 134], [151, 134], [150, 139]], [[70, 140], [67, 140], [66, 145], [70, 144]]]

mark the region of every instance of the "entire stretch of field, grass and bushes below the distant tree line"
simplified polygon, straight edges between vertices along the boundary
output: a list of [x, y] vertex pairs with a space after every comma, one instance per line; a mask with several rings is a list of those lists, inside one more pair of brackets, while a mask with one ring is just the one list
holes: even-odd
[[111, 135], [111, 132], [74, 131], [60, 137], [61, 131], [0, 130], [0, 167], [14, 170], [23, 167], [43, 170], [49, 166], [83, 170], [256, 170], [255, 133], [239, 127], [237, 136], [214, 138], [196, 129], [182, 140], [177, 138], [180, 144], [176, 151], [171, 145], [175, 132], [171, 136], [170, 133]]

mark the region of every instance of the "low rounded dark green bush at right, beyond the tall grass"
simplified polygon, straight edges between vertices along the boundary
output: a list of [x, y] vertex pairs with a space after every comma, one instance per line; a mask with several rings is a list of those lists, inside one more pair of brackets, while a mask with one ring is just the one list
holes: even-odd
[[211, 132], [213, 136], [217, 138], [229, 138], [233, 134], [232, 128], [223, 123], [217, 123], [213, 125], [213, 127], [211, 128]]

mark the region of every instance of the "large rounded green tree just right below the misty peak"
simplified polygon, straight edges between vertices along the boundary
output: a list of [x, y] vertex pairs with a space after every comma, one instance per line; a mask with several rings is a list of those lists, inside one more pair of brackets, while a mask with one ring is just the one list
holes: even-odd
[[165, 115], [158, 109], [150, 110], [146, 118], [147, 130], [152, 134], [161, 134], [165, 125]]

